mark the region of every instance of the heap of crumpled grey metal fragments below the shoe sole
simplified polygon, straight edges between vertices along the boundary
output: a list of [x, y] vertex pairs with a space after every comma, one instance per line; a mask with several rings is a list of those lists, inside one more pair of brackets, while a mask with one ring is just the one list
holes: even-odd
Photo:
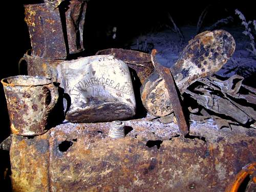
[[212, 76], [198, 80], [185, 93], [189, 94], [189, 97], [194, 98], [205, 109], [215, 114], [231, 117], [241, 124], [246, 124], [256, 120], [254, 110], [256, 93], [246, 89], [242, 80], [243, 77], [238, 75], [229, 78]]

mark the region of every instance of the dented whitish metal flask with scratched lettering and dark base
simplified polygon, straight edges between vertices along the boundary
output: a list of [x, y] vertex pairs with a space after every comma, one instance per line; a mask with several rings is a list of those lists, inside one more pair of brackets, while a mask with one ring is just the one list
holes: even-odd
[[69, 94], [66, 119], [104, 122], [135, 115], [136, 101], [129, 68], [113, 55], [63, 61], [57, 66], [58, 82]]

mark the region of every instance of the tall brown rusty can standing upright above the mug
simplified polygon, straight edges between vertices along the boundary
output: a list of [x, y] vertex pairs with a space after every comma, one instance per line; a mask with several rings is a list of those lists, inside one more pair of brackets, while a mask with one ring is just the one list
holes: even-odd
[[59, 10], [46, 4], [24, 5], [25, 21], [29, 28], [32, 54], [50, 59], [67, 56]]

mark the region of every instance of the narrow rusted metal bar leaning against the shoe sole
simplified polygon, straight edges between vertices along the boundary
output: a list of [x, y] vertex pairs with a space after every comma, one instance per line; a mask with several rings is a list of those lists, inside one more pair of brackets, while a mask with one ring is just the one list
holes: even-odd
[[172, 102], [172, 105], [173, 105], [174, 114], [177, 119], [180, 132], [182, 133], [182, 135], [185, 136], [188, 134], [189, 130], [188, 130], [187, 122], [181, 106], [180, 97], [178, 95], [178, 91], [175, 86], [175, 81], [174, 81], [172, 72], [170, 71], [170, 69], [160, 65], [156, 61], [156, 58], [155, 58], [156, 54], [157, 54], [157, 50], [153, 49], [151, 53], [152, 63], [156, 68], [156, 70], [162, 75], [165, 81], [166, 88], [170, 96], [170, 101]]

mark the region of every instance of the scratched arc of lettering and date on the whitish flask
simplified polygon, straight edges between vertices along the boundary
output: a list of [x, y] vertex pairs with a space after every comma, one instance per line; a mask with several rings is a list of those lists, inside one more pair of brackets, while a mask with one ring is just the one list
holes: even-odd
[[95, 96], [108, 96], [104, 89], [94, 88], [94, 86], [103, 86], [115, 89], [118, 92], [123, 94], [132, 95], [133, 94], [133, 87], [132, 84], [129, 82], [115, 82], [111, 78], [104, 78], [104, 77], [91, 77], [80, 80], [76, 85], [72, 88], [70, 95], [79, 96], [82, 91], [88, 90], [88, 88], [92, 88], [92, 94]]

